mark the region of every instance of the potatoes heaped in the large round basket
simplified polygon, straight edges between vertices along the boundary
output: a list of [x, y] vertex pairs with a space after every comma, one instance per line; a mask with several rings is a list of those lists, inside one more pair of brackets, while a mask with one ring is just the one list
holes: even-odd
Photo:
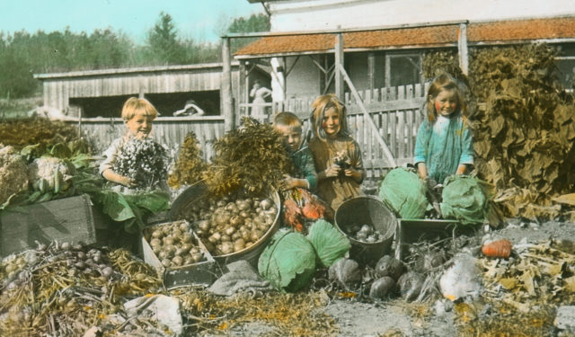
[[184, 217], [214, 256], [240, 252], [265, 235], [278, 216], [270, 198], [225, 196], [190, 204]]

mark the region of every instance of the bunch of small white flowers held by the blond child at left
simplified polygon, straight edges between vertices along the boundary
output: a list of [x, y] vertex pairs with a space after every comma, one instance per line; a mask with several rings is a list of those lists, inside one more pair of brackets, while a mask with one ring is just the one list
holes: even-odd
[[151, 138], [130, 138], [119, 151], [112, 165], [115, 173], [137, 182], [138, 189], [154, 189], [165, 181], [168, 151]]

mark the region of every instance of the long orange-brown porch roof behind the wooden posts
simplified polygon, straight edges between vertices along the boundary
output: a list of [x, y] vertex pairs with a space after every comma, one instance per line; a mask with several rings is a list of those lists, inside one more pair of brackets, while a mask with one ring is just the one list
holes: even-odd
[[[456, 46], [459, 22], [362, 31], [343, 31], [346, 51]], [[239, 49], [235, 58], [314, 54], [333, 51], [334, 32], [270, 33]], [[526, 40], [574, 40], [575, 16], [467, 24], [470, 45], [517, 43]]]

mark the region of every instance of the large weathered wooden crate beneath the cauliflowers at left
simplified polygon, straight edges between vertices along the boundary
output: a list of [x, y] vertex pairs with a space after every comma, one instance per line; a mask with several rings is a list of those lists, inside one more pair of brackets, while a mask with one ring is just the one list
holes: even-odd
[[85, 194], [3, 210], [0, 253], [21, 253], [37, 247], [37, 241], [96, 244], [107, 228], [104, 221]]

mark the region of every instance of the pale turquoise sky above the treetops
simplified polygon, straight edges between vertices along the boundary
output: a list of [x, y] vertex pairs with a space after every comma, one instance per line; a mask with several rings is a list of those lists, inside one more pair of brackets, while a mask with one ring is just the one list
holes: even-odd
[[0, 0], [0, 31], [85, 31], [111, 28], [137, 43], [169, 13], [178, 36], [217, 42], [219, 32], [235, 17], [264, 13], [247, 0]]

